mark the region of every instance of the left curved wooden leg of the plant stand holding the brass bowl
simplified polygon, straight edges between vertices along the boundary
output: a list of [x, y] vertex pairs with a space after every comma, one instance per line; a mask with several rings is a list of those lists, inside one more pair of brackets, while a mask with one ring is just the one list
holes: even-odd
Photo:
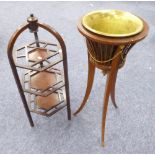
[[78, 110], [74, 113], [74, 115], [78, 114], [84, 108], [93, 86], [94, 75], [95, 75], [95, 66], [90, 61], [88, 61], [88, 80], [87, 80], [87, 89], [85, 97]]

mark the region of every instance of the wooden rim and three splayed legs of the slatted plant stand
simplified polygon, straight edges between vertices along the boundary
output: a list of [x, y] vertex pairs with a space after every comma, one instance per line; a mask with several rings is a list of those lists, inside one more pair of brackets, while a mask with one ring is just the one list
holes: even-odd
[[[94, 81], [94, 74], [95, 74], [95, 68], [101, 69], [105, 74], [107, 74], [107, 81], [106, 81], [106, 87], [105, 87], [105, 94], [104, 94], [104, 101], [103, 101], [103, 113], [102, 113], [102, 129], [101, 129], [101, 141], [102, 146], [104, 146], [104, 139], [105, 139], [105, 124], [106, 124], [106, 115], [107, 115], [107, 109], [108, 109], [108, 101], [109, 97], [111, 96], [112, 103], [115, 108], [117, 108], [116, 101], [115, 101], [115, 84], [117, 79], [117, 73], [119, 68], [123, 67], [124, 60], [131, 48], [139, 41], [144, 39], [147, 34], [149, 27], [147, 23], [143, 21], [144, 28], [143, 31], [140, 32], [137, 35], [131, 36], [131, 37], [124, 37], [124, 38], [112, 38], [112, 37], [105, 37], [101, 35], [97, 35], [95, 33], [92, 33], [85, 29], [81, 23], [82, 18], [78, 22], [78, 30], [79, 32], [86, 38], [86, 40], [90, 40], [92, 44], [94, 42], [101, 44], [101, 45], [112, 45], [117, 46], [114, 56], [117, 55], [120, 50], [122, 50], [121, 54], [118, 54], [115, 59], [111, 60], [110, 65], [106, 65], [106, 63], [98, 63], [94, 59], [91, 58], [90, 55], [90, 47], [87, 42], [87, 49], [88, 49], [88, 80], [87, 80], [87, 88], [85, 92], [84, 99], [80, 105], [80, 107], [76, 110], [74, 115], [77, 115], [86, 105], [86, 102], [88, 100], [88, 97], [90, 95], [93, 81]], [[123, 45], [123, 48], [120, 49]], [[97, 52], [97, 48], [94, 45], [94, 49]], [[123, 62], [123, 63], [122, 63]]]

